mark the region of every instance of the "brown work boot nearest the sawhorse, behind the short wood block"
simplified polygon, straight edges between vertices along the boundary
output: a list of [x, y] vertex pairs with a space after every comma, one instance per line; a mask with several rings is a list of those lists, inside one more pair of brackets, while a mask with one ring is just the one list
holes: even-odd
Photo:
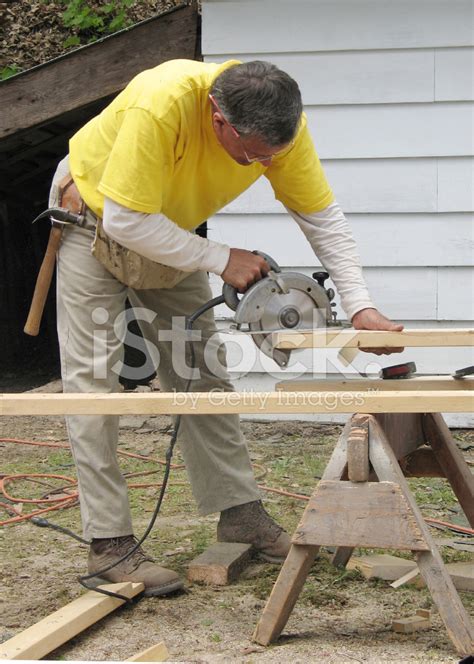
[[261, 500], [221, 512], [217, 541], [252, 544], [258, 556], [270, 563], [284, 562], [291, 545], [288, 533], [265, 511]]

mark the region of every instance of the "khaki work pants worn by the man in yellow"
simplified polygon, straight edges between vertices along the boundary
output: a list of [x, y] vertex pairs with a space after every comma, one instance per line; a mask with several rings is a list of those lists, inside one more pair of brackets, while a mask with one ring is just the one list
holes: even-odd
[[[57, 205], [57, 182], [66, 172], [67, 161], [63, 160], [53, 180], [50, 205]], [[162, 389], [182, 391], [187, 379], [174, 370], [172, 344], [158, 336], [160, 331], [171, 329], [172, 317], [189, 315], [211, 298], [207, 275], [193, 273], [171, 289], [133, 290], [91, 255], [93, 237], [92, 229], [67, 228], [58, 253], [58, 336], [64, 392], [121, 390], [117, 364], [123, 358], [124, 325], [117, 325], [117, 317], [120, 319], [127, 297], [134, 308], [152, 312], [153, 320], [140, 321], [140, 328], [159, 350], [157, 373]], [[225, 353], [215, 337], [212, 311], [198, 319], [195, 329], [202, 330], [202, 342], [194, 343], [201, 375], [193, 380], [191, 391], [232, 391], [221, 368], [225, 366]], [[173, 336], [176, 340], [179, 332], [173, 332]], [[116, 453], [118, 416], [68, 416], [66, 424], [76, 463], [85, 537], [131, 534], [127, 486]], [[183, 416], [178, 444], [201, 514], [260, 498], [238, 416]]]

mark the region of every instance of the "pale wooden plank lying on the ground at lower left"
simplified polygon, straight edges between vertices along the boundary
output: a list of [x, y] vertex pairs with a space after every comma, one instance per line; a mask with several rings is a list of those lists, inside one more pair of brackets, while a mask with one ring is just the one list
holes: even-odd
[[[132, 598], [143, 591], [144, 585], [127, 581], [100, 588]], [[0, 644], [0, 659], [41, 659], [124, 603], [91, 590]]]

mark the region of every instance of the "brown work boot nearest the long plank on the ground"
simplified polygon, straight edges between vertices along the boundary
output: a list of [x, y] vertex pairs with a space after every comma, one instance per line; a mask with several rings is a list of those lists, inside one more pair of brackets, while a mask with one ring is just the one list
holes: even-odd
[[[133, 549], [136, 543], [137, 539], [133, 535], [93, 539], [89, 550], [89, 574], [100, 572], [120, 560]], [[145, 585], [144, 594], [148, 597], [167, 595], [183, 587], [183, 582], [176, 572], [156, 565], [141, 547], [134, 551], [130, 558], [126, 558], [108, 572], [101, 573], [97, 577], [97, 581], [98, 583], [120, 583], [121, 581], [143, 583]]]

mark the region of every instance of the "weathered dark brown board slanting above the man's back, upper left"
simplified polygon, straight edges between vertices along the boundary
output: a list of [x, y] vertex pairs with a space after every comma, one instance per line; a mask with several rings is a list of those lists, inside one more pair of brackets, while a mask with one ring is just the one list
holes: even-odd
[[181, 6], [4, 81], [0, 139], [117, 93], [144, 69], [194, 59], [197, 21], [194, 3]]

